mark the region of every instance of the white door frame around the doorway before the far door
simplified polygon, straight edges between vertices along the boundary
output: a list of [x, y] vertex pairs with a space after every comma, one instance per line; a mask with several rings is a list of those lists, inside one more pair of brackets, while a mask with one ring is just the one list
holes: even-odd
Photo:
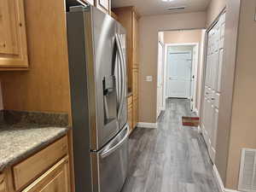
[[[192, 99], [193, 99], [193, 110], [194, 112], [197, 111], [196, 107], [195, 107], [195, 102], [196, 102], [196, 90], [197, 90], [197, 73], [198, 73], [198, 67], [199, 67], [199, 43], [186, 43], [186, 44], [165, 44], [165, 60], [164, 60], [164, 98], [166, 100], [167, 96], [166, 96], [166, 87], [167, 87], [167, 51], [168, 51], [168, 47], [172, 47], [172, 46], [195, 46], [195, 63], [193, 63], [192, 61], [192, 72], [191, 74], [194, 72], [194, 86], [193, 86], [193, 94], [192, 94]], [[193, 55], [193, 53], [192, 53]], [[192, 74], [193, 75], [193, 74]], [[192, 86], [191, 86], [192, 87]]]

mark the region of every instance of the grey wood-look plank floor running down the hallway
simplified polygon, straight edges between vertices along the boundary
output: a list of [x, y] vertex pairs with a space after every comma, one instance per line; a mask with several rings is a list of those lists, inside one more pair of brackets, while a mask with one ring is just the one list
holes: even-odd
[[188, 100], [169, 99], [158, 129], [138, 128], [131, 134], [122, 192], [218, 192], [201, 134], [181, 123], [190, 114]]

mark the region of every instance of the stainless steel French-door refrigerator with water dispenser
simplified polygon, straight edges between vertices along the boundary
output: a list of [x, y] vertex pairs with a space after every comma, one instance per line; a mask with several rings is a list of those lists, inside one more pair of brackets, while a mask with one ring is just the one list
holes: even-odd
[[76, 192], [119, 192], [128, 166], [125, 29], [75, 6], [67, 40]]

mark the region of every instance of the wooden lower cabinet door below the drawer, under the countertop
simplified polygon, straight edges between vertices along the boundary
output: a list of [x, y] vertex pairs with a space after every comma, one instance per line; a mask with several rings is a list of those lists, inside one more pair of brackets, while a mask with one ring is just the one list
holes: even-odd
[[68, 157], [60, 160], [22, 192], [70, 192]]

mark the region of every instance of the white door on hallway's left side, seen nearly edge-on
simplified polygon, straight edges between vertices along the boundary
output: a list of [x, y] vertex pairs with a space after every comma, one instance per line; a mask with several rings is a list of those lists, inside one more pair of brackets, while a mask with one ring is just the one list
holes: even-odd
[[164, 54], [164, 47], [163, 44], [160, 42], [158, 43], [158, 71], [157, 71], [157, 117], [160, 115], [161, 110], [164, 108], [164, 74], [163, 74], [163, 54]]

